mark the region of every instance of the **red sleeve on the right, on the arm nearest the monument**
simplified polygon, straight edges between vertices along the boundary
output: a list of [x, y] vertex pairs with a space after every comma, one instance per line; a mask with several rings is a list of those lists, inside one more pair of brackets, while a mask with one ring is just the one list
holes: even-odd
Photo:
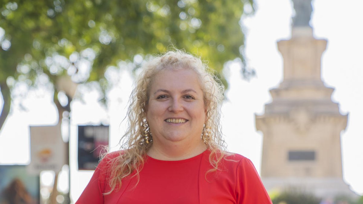
[[238, 204], [272, 204], [251, 160], [243, 157], [238, 164], [236, 174]]

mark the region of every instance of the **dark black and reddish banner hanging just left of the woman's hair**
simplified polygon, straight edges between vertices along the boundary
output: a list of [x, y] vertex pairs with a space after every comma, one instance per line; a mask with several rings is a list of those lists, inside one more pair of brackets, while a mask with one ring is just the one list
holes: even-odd
[[78, 170], [95, 170], [109, 144], [109, 126], [78, 126]]

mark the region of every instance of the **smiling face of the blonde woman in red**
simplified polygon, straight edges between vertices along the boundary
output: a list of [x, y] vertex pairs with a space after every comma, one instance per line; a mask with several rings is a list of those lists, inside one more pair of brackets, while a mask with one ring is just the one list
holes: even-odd
[[146, 117], [154, 145], [186, 142], [193, 146], [206, 120], [203, 91], [193, 70], [162, 70], [150, 87]]

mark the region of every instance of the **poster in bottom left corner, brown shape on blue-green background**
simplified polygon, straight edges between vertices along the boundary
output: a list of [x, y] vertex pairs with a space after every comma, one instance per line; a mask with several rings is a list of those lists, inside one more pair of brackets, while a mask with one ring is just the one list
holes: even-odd
[[39, 175], [29, 175], [24, 165], [0, 165], [0, 203], [40, 203]]

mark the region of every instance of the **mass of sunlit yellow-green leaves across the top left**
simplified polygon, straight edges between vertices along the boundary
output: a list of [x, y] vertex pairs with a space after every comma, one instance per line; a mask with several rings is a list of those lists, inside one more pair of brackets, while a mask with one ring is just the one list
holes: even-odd
[[[3, 1], [0, 26], [12, 38], [14, 63], [26, 53], [36, 59], [97, 52], [93, 71], [136, 54], [158, 54], [173, 45], [203, 56], [221, 76], [224, 62], [241, 58], [244, 34], [238, 24], [244, 1]], [[9, 10], [17, 5], [15, 10]], [[7, 13], [7, 12], [5, 12]], [[19, 43], [17, 43], [19, 42]], [[21, 43], [20, 43], [21, 42]], [[1, 50], [1, 60], [5, 60]], [[1, 64], [1, 67], [9, 64]], [[13, 68], [12, 68], [13, 69]], [[94, 79], [102, 78], [99, 76]]]

